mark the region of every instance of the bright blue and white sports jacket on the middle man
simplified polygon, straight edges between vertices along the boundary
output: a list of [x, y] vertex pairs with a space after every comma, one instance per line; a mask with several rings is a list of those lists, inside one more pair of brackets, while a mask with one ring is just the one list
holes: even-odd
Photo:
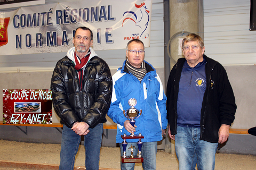
[[[108, 116], [117, 123], [116, 142], [121, 143], [121, 135], [130, 135], [123, 127], [127, 118], [123, 110], [131, 108], [128, 100], [134, 98], [138, 110], [142, 114], [135, 121], [137, 126], [134, 134], [141, 133], [144, 136], [142, 142], [153, 142], [162, 140], [162, 129], [166, 129], [166, 96], [164, 94], [162, 82], [154, 67], [146, 63], [147, 74], [140, 82], [134, 75], [129, 73], [123, 63], [113, 75], [113, 94]], [[138, 139], [127, 139], [127, 142], [138, 142]]]

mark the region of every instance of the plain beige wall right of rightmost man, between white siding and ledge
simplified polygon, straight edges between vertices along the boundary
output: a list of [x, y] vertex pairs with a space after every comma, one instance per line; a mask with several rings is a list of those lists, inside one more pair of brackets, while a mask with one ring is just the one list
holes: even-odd
[[256, 126], [256, 65], [225, 66], [236, 97], [236, 115], [231, 128], [250, 129]]

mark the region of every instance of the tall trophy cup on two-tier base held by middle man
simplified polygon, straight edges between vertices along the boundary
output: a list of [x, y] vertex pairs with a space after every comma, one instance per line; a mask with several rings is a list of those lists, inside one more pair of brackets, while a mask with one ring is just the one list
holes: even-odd
[[[131, 108], [127, 109], [127, 111], [123, 111], [124, 112], [124, 116], [126, 118], [128, 118], [128, 120], [130, 120], [130, 123], [132, 126], [135, 125], [135, 119], [137, 119], [138, 117], [140, 117], [142, 111], [140, 110], [140, 112], [134, 107], [137, 104], [137, 100], [136, 99], [129, 99], [128, 101], [129, 105], [131, 106]], [[131, 133], [129, 136], [127, 136], [126, 134], [121, 135], [122, 139], [124, 140], [122, 142], [122, 147], [123, 147], [123, 156], [121, 156], [121, 161], [122, 163], [143, 163], [143, 158], [141, 156], [141, 147], [143, 142], [141, 142], [141, 139], [143, 139], [144, 137], [139, 134], [139, 135], [135, 135], [134, 133]], [[139, 141], [137, 142], [138, 145], [138, 150], [139, 150], [139, 155], [133, 155], [133, 149], [135, 149], [134, 146], [130, 146], [129, 149], [131, 151], [131, 156], [126, 156], [126, 147], [128, 145], [128, 143], [126, 142], [126, 139], [139, 139]], [[128, 150], [129, 150], [128, 149]]]

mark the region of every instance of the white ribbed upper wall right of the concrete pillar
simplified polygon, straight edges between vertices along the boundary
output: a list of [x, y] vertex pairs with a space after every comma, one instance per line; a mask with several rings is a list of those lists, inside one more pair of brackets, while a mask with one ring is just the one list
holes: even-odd
[[256, 63], [256, 31], [250, 0], [204, 0], [205, 54], [222, 65]]

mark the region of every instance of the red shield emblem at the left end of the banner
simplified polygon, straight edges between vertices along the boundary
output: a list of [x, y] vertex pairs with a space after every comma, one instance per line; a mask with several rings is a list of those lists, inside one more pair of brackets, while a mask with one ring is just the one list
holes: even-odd
[[8, 43], [7, 28], [10, 18], [0, 18], [0, 47]]

